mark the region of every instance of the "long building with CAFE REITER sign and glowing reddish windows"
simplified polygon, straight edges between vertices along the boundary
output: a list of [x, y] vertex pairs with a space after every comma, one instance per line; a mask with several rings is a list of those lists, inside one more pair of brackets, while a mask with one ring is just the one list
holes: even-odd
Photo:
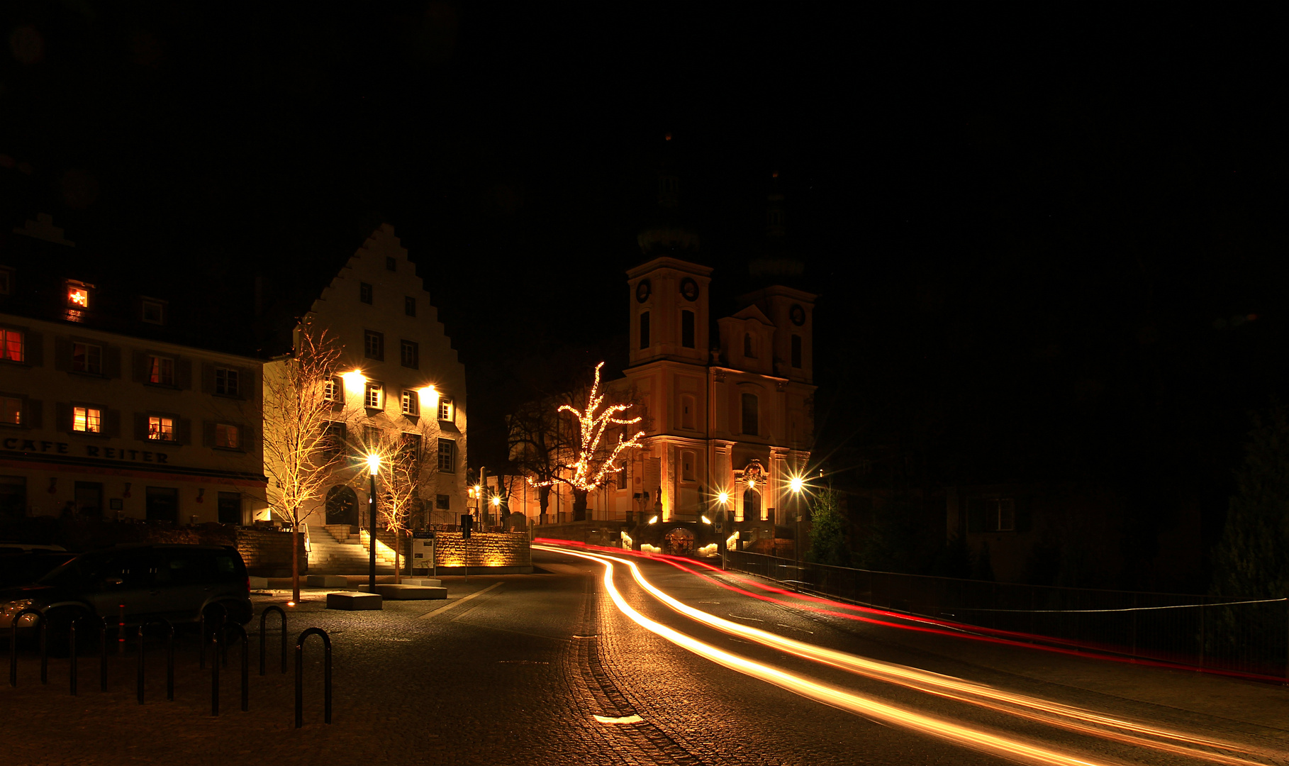
[[0, 517], [264, 513], [262, 368], [237, 333], [206, 333], [49, 215], [4, 235]]

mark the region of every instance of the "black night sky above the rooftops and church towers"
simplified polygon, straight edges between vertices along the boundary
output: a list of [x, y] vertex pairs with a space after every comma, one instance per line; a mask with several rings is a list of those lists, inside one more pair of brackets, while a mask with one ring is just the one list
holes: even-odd
[[625, 357], [664, 153], [718, 308], [758, 286], [777, 172], [834, 468], [1092, 478], [1147, 526], [1182, 496], [1219, 524], [1286, 380], [1274, 17], [379, 8], [8, 4], [6, 214], [53, 213], [125, 277], [259, 268], [281, 295], [393, 223], [478, 463], [508, 401]]

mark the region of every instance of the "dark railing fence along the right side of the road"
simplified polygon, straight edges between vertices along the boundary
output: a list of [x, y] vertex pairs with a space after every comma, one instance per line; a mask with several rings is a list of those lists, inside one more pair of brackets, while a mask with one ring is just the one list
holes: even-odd
[[1289, 678], [1289, 600], [1097, 591], [869, 571], [728, 551], [726, 567], [1017, 641]]

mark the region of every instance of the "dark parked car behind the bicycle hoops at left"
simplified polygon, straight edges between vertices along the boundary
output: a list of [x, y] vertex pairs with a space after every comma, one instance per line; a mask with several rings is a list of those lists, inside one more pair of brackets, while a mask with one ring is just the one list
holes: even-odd
[[[31, 585], [0, 589], [0, 628], [28, 607], [61, 637], [79, 614], [112, 623], [124, 605], [126, 624], [156, 618], [182, 624], [196, 623], [215, 604], [229, 620], [250, 622], [246, 564], [232, 545], [119, 545], [81, 553]], [[34, 623], [23, 616], [18, 625]]]

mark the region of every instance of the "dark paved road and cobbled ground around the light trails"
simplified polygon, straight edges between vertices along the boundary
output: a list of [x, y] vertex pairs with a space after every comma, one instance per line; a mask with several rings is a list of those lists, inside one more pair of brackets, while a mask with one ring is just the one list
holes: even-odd
[[[220, 766], [275, 761], [1013, 762], [963, 747], [924, 726], [893, 723], [882, 716], [856, 714], [808, 699], [768, 682], [766, 673], [773, 672], [793, 673], [846, 695], [951, 722], [964, 730], [1072, 753], [1087, 762], [1204, 762], [1194, 752], [1165, 752], [1121, 741], [1121, 736], [1107, 739], [1105, 726], [1093, 727], [1092, 732], [1052, 726], [1032, 716], [1020, 717], [1008, 705], [959, 702], [942, 691], [928, 694], [767, 647], [677, 613], [647, 593], [625, 567], [615, 567], [612, 582], [626, 606], [642, 618], [748, 663], [744, 672], [731, 669], [644, 629], [625, 615], [607, 592], [599, 562], [549, 552], [535, 552], [534, 558], [540, 567], [534, 575], [446, 579], [451, 596], [446, 604], [385, 602], [383, 611], [344, 613], [326, 610], [322, 593], [311, 593], [302, 604], [287, 607], [293, 637], [309, 625], [331, 636], [335, 691], [331, 725], [322, 722], [321, 649], [316, 638], [305, 650], [303, 729], [294, 727], [294, 676], [276, 672], [278, 643], [272, 631], [268, 676], [255, 674], [258, 656], [253, 651], [250, 712], [238, 709], [240, 647], [233, 647], [229, 665], [222, 672], [218, 717], [210, 714], [210, 673], [197, 668], [193, 636], [179, 641], [174, 702], [165, 699], [162, 653], [152, 650], [143, 705], [134, 698], [133, 655], [111, 658], [106, 694], [98, 690], [97, 660], [81, 658], [80, 694], [75, 698], [67, 691], [66, 659], [52, 662], [50, 683], [43, 686], [39, 664], [24, 655], [18, 687], [0, 686], [4, 694], [0, 704], [8, 707], [0, 717], [8, 760]], [[1289, 762], [1289, 731], [1284, 723], [1289, 716], [1279, 714], [1289, 712], [1289, 694], [1284, 689], [1222, 686], [1222, 694], [1228, 695], [1223, 698], [1227, 700], [1223, 709], [1245, 705], [1250, 711], [1223, 717], [1197, 705], [1156, 699], [1168, 689], [1186, 694], [1186, 683], [1192, 682], [1188, 676], [1141, 668], [1106, 669], [1078, 658], [1035, 659], [1020, 656], [1014, 650], [813, 614], [723, 587], [739, 584], [736, 578], [704, 579], [656, 561], [641, 562], [641, 571], [683, 604], [811, 646], [924, 668], [990, 689], [1150, 722], [1243, 748], [1185, 745], [1208, 754], [1209, 760], [1217, 758], [1216, 762]], [[257, 607], [285, 601], [257, 597]], [[258, 620], [251, 627], [258, 628]], [[253, 637], [250, 646], [258, 650], [258, 638]], [[1089, 678], [1100, 680], [1101, 686]], [[1123, 686], [1111, 687], [1114, 682]], [[1142, 694], [1128, 694], [1124, 689]], [[1177, 745], [1176, 740], [1169, 741]]]

